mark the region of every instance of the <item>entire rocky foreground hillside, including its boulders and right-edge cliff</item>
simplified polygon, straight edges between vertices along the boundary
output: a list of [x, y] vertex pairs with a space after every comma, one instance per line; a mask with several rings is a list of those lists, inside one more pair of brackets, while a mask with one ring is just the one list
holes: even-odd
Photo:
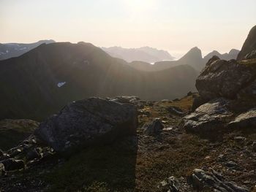
[[0, 191], [256, 191], [255, 29], [182, 99], [91, 98], [40, 124], [0, 121]]

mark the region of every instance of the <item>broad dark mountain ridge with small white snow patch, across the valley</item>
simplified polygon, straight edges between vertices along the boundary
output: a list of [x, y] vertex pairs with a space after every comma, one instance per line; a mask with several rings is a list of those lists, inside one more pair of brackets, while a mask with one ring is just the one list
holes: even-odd
[[141, 72], [89, 43], [40, 45], [0, 61], [0, 118], [40, 120], [89, 96], [174, 99], [195, 90], [196, 77], [191, 66]]

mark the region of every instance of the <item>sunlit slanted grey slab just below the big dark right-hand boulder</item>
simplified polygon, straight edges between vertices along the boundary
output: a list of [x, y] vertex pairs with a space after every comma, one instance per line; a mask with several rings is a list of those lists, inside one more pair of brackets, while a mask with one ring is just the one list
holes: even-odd
[[211, 136], [217, 129], [223, 128], [232, 117], [232, 112], [227, 109], [230, 101], [227, 99], [214, 99], [198, 107], [195, 112], [185, 116], [181, 126], [187, 132]]

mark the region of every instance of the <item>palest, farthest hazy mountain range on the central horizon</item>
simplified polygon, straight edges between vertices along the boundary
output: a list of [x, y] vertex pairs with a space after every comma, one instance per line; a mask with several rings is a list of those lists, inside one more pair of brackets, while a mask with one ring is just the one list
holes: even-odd
[[102, 50], [113, 57], [124, 59], [127, 62], [143, 61], [154, 63], [162, 60], [173, 60], [173, 56], [165, 50], [157, 50], [151, 47], [123, 48], [123, 47], [102, 47]]

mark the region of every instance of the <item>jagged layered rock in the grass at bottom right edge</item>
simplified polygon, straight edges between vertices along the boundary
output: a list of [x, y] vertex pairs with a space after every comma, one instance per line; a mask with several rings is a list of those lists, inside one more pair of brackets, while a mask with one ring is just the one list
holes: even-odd
[[236, 183], [226, 181], [221, 174], [214, 170], [205, 172], [203, 169], [194, 169], [189, 177], [189, 183], [197, 191], [249, 192], [248, 189], [239, 187]]

